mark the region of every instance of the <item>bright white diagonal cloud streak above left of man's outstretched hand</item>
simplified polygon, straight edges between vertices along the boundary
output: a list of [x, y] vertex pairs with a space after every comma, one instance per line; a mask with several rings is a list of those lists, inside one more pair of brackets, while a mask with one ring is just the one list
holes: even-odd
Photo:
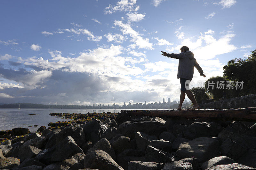
[[120, 26], [121, 31], [123, 34], [129, 34], [132, 38], [132, 42], [135, 42], [135, 44], [139, 48], [148, 48], [148, 49], [154, 49], [152, 46], [153, 44], [149, 42], [149, 39], [143, 39], [138, 32], [132, 29], [130, 24], [124, 24], [122, 21], [115, 20], [114, 22], [115, 26]]

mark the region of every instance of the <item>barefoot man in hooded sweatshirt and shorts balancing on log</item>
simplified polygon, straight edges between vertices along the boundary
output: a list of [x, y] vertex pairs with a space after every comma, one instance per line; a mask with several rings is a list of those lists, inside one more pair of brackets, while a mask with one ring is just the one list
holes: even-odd
[[179, 59], [179, 67], [178, 67], [178, 76], [177, 78], [180, 78], [180, 104], [178, 106], [177, 110], [181, 110], [182, 103], [185, 99], [185, 95], [187, 94], [188, 99], [192, 101], [193, 107], [189, 110], [198, 109], [199, 105], [196, 102], [194, 94], [189, 90], [189, 83], [191, 82], [194, 74], [194, 67], [198, 70], [200, 73], [200, 76], [204, 76], [204, 72], [200, 65], [196, 62], [196, 59], [194, 58], [194, 54], [189, 51], [189, 48], [186, 46], [183, 46], [180, 48], [180, 54], [168, 54], [164, 51], [161, 51], [164, 56], [171, 57], [171, 58], [177, 58]]

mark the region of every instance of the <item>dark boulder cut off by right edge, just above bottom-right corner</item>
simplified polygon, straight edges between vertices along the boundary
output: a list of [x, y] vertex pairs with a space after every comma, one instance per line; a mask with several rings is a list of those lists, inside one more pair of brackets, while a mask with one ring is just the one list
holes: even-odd
[[256, 150], [251, 149], [245, 152], [236, 163], [256, 168]]

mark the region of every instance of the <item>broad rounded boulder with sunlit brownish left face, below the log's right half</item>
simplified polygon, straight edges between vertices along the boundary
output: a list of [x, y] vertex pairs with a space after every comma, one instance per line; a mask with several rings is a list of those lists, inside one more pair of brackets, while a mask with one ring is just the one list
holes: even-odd
[[181, 143], [176, 151], [180, 159], [197, 158], [198, 162], [205, 162], [217, 157], [220, 152], [220, 144], [216, 139], [199, 137], [192, 141]]

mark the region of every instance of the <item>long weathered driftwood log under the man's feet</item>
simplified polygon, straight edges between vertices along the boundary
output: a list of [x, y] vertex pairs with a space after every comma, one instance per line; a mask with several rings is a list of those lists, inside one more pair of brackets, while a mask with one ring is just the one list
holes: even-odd
[[121, 113], [142, 116], [158, 116], [187, 119], [214, 119], [223, 121], [256, 121], [256, 107], [239, 109], [196, 109], [196, 110], [121, 110]]

